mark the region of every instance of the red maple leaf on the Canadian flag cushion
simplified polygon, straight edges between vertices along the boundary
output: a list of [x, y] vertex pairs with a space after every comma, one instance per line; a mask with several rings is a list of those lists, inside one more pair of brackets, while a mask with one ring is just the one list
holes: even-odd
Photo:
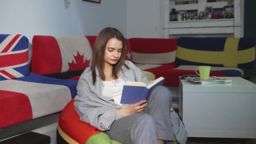
[[[73, 55], [74, 56], [74, 55]], [[86, 67], [89, 67], [90, 59], [87, 60], [85, 58], [85, 61], [83, 60], [83, 55], [80, 55], [80, 53], [77, 51], [77, 56], [74, 56], [75, 61], [72, 60], [72, 63], [67, 63], [69, 65], [68, 72], [75, 71], [75, 70], [81, 70], [85, 69]]]

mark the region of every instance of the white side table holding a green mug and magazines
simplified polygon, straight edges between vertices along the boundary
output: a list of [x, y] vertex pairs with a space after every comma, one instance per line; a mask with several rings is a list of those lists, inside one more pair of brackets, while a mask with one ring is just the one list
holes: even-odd
[[241, 77], [225, 78], [232, 83], [180, 80], [179, 115], [189, 137], [256, 139], [256, 84]]

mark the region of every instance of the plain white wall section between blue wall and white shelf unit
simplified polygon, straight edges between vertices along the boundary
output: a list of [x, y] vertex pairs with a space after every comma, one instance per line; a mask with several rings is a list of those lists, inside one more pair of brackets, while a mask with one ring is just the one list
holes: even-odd
[[127, 37], [163, 37], [164, 0], [127, 0]]

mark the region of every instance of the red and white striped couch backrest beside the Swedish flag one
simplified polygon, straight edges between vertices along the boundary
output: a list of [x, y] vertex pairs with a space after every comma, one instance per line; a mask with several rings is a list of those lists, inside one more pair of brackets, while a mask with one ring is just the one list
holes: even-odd
[[131, 38], [132, 61], [140, 64], [171, 64], [174, 66], [176, 39]]

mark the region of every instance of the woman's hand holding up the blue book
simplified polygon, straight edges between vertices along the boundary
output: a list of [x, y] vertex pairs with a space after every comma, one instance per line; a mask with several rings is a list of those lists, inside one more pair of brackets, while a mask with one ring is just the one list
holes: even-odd
[[123, 109], [117, 109], [116, 115], [127, 116], [127, 115], [133, 115], [133, 114], [139, 113], [146, 108], [147, 106], [146, 102], [147, 102], [146, 100], [142, 100], [135, 104], [130, 104], [128, 107], [125, 107]]

